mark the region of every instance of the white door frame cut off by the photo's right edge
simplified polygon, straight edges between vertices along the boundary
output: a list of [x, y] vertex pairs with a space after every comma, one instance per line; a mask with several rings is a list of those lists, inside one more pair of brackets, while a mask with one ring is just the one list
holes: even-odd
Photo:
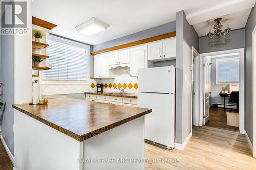
[[[252, 31], [252, 80], [256, 80], [256, 26]], [[253, 48], [254, 47], [254, 48]], [[256, 83], [252, 81], [252, 155], [256, 158]]]

